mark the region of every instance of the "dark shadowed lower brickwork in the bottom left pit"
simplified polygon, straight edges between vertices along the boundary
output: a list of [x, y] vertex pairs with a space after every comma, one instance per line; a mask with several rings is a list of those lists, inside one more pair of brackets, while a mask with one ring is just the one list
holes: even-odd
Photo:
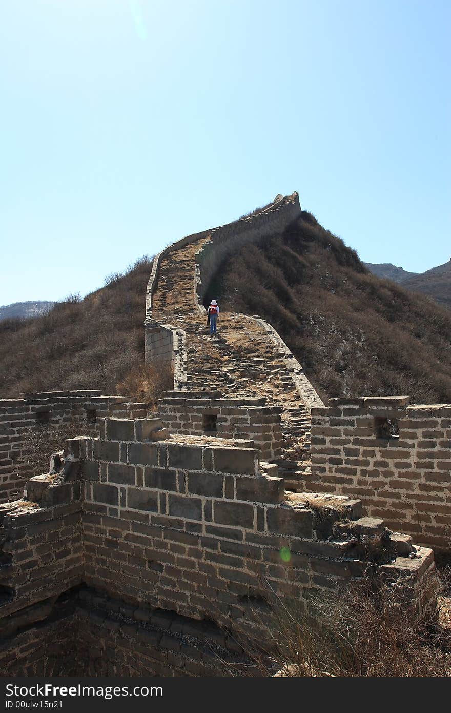
[[0, 629], [4, 676], [205, 677], [227, 674], [227, 663], [249, 665], [214, 622], [137, 608], [85, 586], [38, 609], [39, 620], [22, 615]]

